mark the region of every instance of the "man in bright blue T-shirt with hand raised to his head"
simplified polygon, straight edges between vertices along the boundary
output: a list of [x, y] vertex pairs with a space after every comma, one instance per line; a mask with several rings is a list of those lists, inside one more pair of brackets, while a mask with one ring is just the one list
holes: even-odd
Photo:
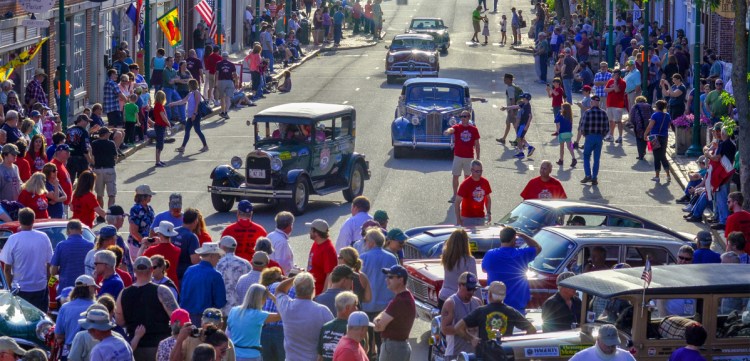
[[[527, 247], [517, 248], [516, 237], [523, 240]], [[526, 271], [529, 262], [542, 252], [542, 246], [524, 233], [516, 232], [512, 227], [500, 231], [500, 248], [487, 252], [482, 259], [482, 270], [487, 274], [487, 283], [501, 281], [507, 286], [505, 304], [526, 314], [526, 304], [531, 299]]]

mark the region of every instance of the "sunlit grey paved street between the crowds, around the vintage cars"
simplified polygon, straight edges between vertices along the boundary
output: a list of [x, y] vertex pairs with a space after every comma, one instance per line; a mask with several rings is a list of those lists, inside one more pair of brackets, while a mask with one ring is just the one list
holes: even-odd
[[[492, 6], [492, 1], [488, 1]], [[493, 215], [498, 218], [513, 208], [520, 200], [519, 193], [527, 180], [538, 175], [543, 159], [552, 161], [558, 157], [558, 143], [550, 134], [554, 132], [550, 101], [544, 86], [533, 82], [535, 78], [533, 58], [508, 48], [497, 46], [467, 45], [471, 38], [471, 11], [474, 1], [468, 0], [411, 0], [408, 6], [396, 6], [394, 1], [384, 3], [385, 31], [388, 38], [402, 32], [413, 16], [442, 17], [450, 27], [452, 44], [447, 55], [441, 56], [442, 77], [467, 81], [472, 96], [486, 97], [489, 102], [475, 103], [477, 126], [482, 136], [482, 161], [484, 176], [493, 187]], [[501, 0], [499, 8], [510, 20], [511, 5], [529, 13], [527, 2]], [[499, 39], [501, 14], [490, 14], [490, 42]], [[510, 30], [510, 26], [509, 26]], [[346, 35], [346, 33], [345, 33]], [[510, 35], [510, 34], [509, 34]], [[294, 89], [288, 94], [269, 94], [257, 107], [230, 112], [227, 121], [214, 117], [204, 121], [203, 129], [211, 150], [199, 153], [200, 142], [195, 134], [184, 154], [174, 152], [179, 144], [168, 144], [162, 155], [167, 168], [154, 168], [153, 146], [146, 147], [118, 165], [118, 203], [131, 205], [135, 187], [142, 183], [151, 185], [158, 194], [152, 206], [157, 212], [167, 208], [171, 192], [180, 192], [184, 207], [197, 207], [206, 216], [209, 230], [218, 240], [224, 227], [234, 221], [234, 213], [216, 213], [210, 202], [206, 186], [210, 184], [209, 173], [219, 164], [226, 164], [232, 156], [245, 154], [252, 148], [251, 127], [245, 124], [257, 111], [287, 102], [330, 102], [353, 105], [357, 110], [356, 151], [364, 153], [370, 162], [372, 179], [365, 183], [365, 195], [374, 204], [374, 209], [384, 209], [390, 215], [390, 227], [403, 229], [415, 226], [452, 223], [453, 209], [447, 200], [451, 196], [450, 160], [445, 154], [419, 152], [406, 159], [393, 159], [390, 145], [390, 122], [396, 106], [400, 85], [387, 85], [383, 74], [384, 54], [387, 41], [381, 44], [351, 51], [321, 54], [297, 68], [293, 74]], [[534, 122], [527, 139], [537, 147], [531, 159], [517, 161], [514, 152], [495, 142], [504, 127], [504, 114], [499, 107], [504, 105], [504, 73], [516, 75], [517, 83], [534, 98]], [[577, 99], [580, 95], [574, 94]], [[578, 112], [575, 112], [576, 117]], [[178, 134], [178, 143], [182, 133]], [[659, 184], [650, 180], [653, 168], [649, 162], [635, 160], [635, 141], [632, 136], [624, 144], [605, 144], [602, 167], [597, 187], [581, 186], [583, 163], [575, 169], [566, 165], [555, 166], [553, 175], [564, 184], [570, 199], [599, 202], [624, 208], [650, 217], [679, 231], [697, 232], [696, 225], [682, 221], [680, 208], [674, 200], [681, 196], [676, 183]], [[579, 153], [580, 156], [580, 153]], [[276, 209], [257, 205], [255, 220], [267, 230], [273, 230]], [[323, 218], [332, 225], [333, 238], [348, 217], [350, 205], [340, 193], [327, 197], [311, 197], [309, 211], [297, 218], [292, 238], [296, 263], [306, 266], [307, 252], [311, 241], [303, 223]], [[498, 218], [499, 219], [499, 218]], [[426, 359], [425, 336], [429, 325], [417, 321], [412, 332], [415, 347], [413, 360]]]

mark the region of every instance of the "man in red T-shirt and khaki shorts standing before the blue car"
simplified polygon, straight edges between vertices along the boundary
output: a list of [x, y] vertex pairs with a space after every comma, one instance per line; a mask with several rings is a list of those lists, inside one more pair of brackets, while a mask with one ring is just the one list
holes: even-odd
[[458, 123], [445, 130], [445, 135], [453, 136], [453, 196], [448, 201], [453, 203], [456, 200], [458, 191], [458, 177], [461, 172], [464, 178], [471, 176], [471, 161], [474, 160], [474, 149], [477, 151], [479, 159], [479, 130], [474, 124], [469, 123], [471, 112], [464, 110], [461, 112], [461, 123]]

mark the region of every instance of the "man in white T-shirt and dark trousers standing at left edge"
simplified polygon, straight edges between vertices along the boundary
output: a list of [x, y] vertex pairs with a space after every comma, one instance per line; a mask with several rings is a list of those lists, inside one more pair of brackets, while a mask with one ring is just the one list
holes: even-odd
[[19, 231], [8, 237], [0, 251], [0, 261], [5, 265], [6, 285], [18, 290], [19, 297], [47, 312], [47, 269], [52, 260], [52, 244], [47, 234], [33, 229], [34, 219], [30, 208], [18, 211]]

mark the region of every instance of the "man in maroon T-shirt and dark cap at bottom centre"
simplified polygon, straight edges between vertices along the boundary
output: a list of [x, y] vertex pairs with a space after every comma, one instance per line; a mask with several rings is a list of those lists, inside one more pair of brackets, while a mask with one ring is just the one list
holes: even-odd
[[380, 361], [409, 361], [411, 357], [411, 345], [409, 345], [409, 333], [414, 325], [414, 317], [417, 314], [414, 296], [406, 289], [406, 280], [409, 274], [406, 268], [393, 265], [391, 268], [383, 268], [383, 274], [387, 276], [386, 285], [395, 294], [388, 307], [375, 319], [375, 332], [380, 332], [382, 343], [380, 346]]

